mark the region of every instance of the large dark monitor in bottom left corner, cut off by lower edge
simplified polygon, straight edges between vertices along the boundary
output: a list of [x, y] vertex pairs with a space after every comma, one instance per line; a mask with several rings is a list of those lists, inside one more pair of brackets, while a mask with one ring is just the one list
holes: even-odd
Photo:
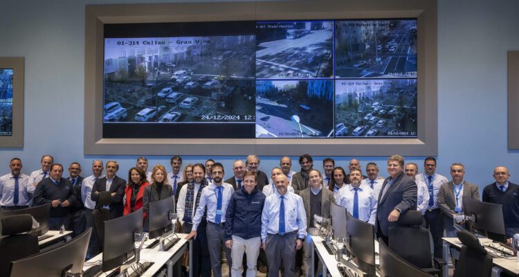
[[[92, 229], [89, 228], [70, 242], [65, 242], [59, 247], [11, 262], [10, 276], [81, 274], [91, 233]], [[8, 255], [7, 253], [3, 254]]]

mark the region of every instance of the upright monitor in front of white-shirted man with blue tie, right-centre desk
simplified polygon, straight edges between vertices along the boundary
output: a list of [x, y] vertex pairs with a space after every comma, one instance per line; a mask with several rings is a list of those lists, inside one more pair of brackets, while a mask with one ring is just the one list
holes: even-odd
[[346, 231], [349, 245], [346, 248], [355, 257], [354, 262], [369, 276], [375, 276], [375, 241], [372, 224], [357, 220], [347, 213]]

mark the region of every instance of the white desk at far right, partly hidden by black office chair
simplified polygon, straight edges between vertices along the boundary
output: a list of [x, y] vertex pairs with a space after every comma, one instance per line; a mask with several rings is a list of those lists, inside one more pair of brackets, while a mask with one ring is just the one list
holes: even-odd
[[[450, 256], [450, 247], [454, 247], [456, 249], [461, 249], [463, 244], [459, 241], [458, 238], [441, 238], [444, 240], [444, 260], [448, 262]], [[492, 242], [489, 238], [479, 238], [481, 244], [486, 244]], [[499, 277], [501, 276], [501, 272], [507, 271], [508, 274], [512, 276], [519, 276], [519, 262], [517, 258], [492, 258], [492, 262], [494, 267], [492, 268], [492, 276]], [[444, 267], [444, 271], [442, 272], [442, 276], [448, 277], [448, 267]]]

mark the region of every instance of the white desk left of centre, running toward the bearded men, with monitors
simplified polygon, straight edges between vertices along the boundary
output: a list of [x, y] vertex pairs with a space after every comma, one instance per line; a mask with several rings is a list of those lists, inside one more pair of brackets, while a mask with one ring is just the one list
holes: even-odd
[[[140, 251], [140, 261], [154, 262], [154, 264], [152, 265], [152, 267], [149, 267], [147, 271], [145, 271], [145, 273], [142, 275], [143, 277], [154, 276], [154, 274], [156, 274], [163, 267], [163, 265], [167, 265], [168, 277], [176, 276], [176, 274], [173, 274], [173, 265], [183, 256], [185, 250], [188, 249], [188, 243], [190, 249], [192, 247], [192, 240], [190, 240], [189, 242], [188, 240], [184, 240], [185, 236], [188, 234], [177, 233], [176, 235], [178, 235], [179, 238], [181, 238], [181, 240], [179, 240], [179, 242], [176, 242], [176, 244], [168, 251], [158, 251], [158, 244], [156, 245], [156, 247], [152, 249], [145, 249], [145, 247], [154, 242], [154, 240], [147, 240], [145, 242], [143, 249]], [[101, 261], [102, 253], [88, 260], [87, 263], [85, 263], [83, 270], [86, 270], [89, 267], [92, 267], [93, 265], [98, 264]], [[131, 269], [128, 269], [128, 271], [128, 273], [132, 272]], [[103, 273], [100, 276], [107, 276], [110, 272], [111, 271]]]

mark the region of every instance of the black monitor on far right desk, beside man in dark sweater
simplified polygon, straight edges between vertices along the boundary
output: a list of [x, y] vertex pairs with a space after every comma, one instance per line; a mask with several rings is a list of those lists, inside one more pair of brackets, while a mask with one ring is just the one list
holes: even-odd
[[470, 231], [482, 230], [492, 240], [506, 241], [502, 205], [463, 197], [463, 213], [473, 217], [466, 220]]

